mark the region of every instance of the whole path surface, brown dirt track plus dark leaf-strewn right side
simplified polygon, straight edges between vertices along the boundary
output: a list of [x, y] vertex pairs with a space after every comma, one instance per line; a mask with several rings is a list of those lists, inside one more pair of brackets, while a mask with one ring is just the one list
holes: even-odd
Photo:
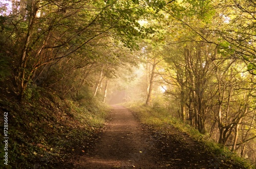
[[59, 168], [242, 168], [175, 127], [166, 125], [165, 131], [142, 125], [130, 110], [113, 105], [94, 146]]

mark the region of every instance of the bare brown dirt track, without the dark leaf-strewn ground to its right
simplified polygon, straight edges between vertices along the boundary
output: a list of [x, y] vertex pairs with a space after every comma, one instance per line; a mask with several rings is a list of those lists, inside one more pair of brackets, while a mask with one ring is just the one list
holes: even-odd
[[96, 149], [82, 156], [76, 168], [155, 168], [154, 143], [142, 132], [133, 114], [113, 105], [112, 120], [102, 134]]

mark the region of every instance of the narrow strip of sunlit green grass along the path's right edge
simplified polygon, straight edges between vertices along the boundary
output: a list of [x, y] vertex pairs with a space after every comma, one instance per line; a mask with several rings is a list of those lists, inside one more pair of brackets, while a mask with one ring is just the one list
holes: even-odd
[[256, 166], [251, 164], [250, 161], [240, 158], [235, 153], [230, 152], [227, 148], [215, 143], [214, 140], [211, 140], [207, 134], [204, 135], [197, 129], [183, 123], [180, 119], [171, 116], [170, 112], [166, 108], [161, 107], [158, 104], [146, 106], [145, 104], [139, 102], [126, 102], [123, 103], [123, 105], [129, 108], [134, 115], [138, 117], [142, 124], [160, 129], [161, 132], [166, 133], [168, 132], [164, 131], [167, 130], [166, 125], [174, 126], [181, 132], [185, 132], [193, 139], [197, 140], [199, 144], [204, 145], [207, 151], [215, 154], [215, 156], [232, 159], [234, 162], [244, 166], [245, 168], [256, 168]]

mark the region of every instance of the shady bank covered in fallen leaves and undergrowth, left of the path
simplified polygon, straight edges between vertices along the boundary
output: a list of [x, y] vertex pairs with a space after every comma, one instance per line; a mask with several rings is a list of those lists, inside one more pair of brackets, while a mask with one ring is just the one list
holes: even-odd
[[8, 165], [2, 162], [0, 168], [56, 168], [71, 154], [86, 153], [102, 130], [107, 106], [93, 98], [63, 100], [54, 92], [36, 91], [22, 103], [0, 99], [2, 114], [8, 112], [9, 136]]

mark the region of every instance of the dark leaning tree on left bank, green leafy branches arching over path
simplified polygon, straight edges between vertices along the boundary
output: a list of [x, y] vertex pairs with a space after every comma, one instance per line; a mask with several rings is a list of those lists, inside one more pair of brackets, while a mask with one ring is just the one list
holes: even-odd
[[[97, 43], [108, 37], [119, 40], [129, 48], [136, 48], [136, 40], [153, 30], [140, 26], [141, 18], [155, 17], [153, 11], [162, 8], [164, 1], [22, 1], [22, 7], [9, 15], [11, 30], [6, 33], [20, 51], [14, 54], [15, 80], [22, 100], [33, 78], [45, 71], [52, 71], [65, 58], [82, 58], [79, 67], [85, 67], [99, 59], [96, 55], [84, 55], [94, 51]], [[26, 4], [26, 7], [25, 5]], [[13, 1], [16, 9], [16, 2]], [[153, 10], [149, 10], [153, 9]], [[17, 14], [16, 14], [17, 13]], [[118, 19], [117, 19], [118, 17]], [[19, 19], [21, 18], [21, 19]], [[8, 37], [8, 36], [7, 36]], [[135, 37], [135, 38], [134, 38]], [[103, 40], [104, 41], [104, 40]], [[18, 43], [24, 42], [24, 43]], [[95, 43], [97, 42], [97, 43]], [[6, 44], [7, 45], [7, 44]], [[9, 46], [16, 44], [10, 42]], [[33, 56], [33, 57], [32, 57]], [[68, 59], [69, 60], [69, 59]], [[71, 69], [72, 70], [72, 69]], [[61, 77], [62, 78], [62, 77]]]

